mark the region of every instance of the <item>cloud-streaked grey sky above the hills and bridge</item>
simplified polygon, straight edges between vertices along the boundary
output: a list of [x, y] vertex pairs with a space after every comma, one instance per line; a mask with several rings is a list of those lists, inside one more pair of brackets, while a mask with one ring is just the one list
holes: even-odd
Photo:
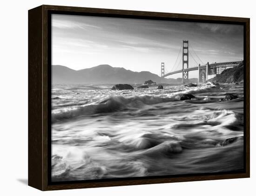
[[165, 73], [182, 69], [182, 40], [189, 67], [243, 59], [243, 25], [52, 15], [52, 65], [73, 70], [109, 64], [160, 76], [162, 62]]

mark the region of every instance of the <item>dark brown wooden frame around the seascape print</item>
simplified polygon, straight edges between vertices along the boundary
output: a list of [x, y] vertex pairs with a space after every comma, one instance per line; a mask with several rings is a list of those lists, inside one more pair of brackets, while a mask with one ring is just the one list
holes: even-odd
[[[131, 19], [157, 19], [188, 22], [239, 24], [244, 27], [244, 170], [162, 177], [133, 177], [81, 182], [51, 183], [51, 14], [106, 16]], [[249, 19], [177, 13], [141, 12], [70, 6], [42, 5], [28, 11], [28, 185], [39, 190], [172, 183], [244, 178], [250, 174], [249, 158]]]

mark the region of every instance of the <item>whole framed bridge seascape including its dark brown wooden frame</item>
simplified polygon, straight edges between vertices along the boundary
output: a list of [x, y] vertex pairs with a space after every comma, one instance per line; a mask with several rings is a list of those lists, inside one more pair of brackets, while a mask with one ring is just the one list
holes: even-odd
[[249, 177], [249, 19], [28, 11], [28, 185]]

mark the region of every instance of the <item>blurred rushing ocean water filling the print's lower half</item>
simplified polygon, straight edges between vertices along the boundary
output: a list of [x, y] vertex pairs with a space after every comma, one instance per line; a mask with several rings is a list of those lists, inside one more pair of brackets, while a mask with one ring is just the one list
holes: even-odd
[[53, 85], [52, 181], [243, 169], [243, 85], [112, 86]]

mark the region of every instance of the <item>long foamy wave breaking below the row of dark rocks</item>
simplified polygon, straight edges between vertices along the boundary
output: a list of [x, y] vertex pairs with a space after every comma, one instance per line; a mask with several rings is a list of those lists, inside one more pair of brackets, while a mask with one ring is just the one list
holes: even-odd
[[56, 120], [74, 118], [87, 114], [101, 114], [110, 113], [116, 111], [125, 111], [128, 109], [141, 108], [143, 105], [153, 105], [168, 101], [180, 101], [182, 94], [184, 93], [198, 93], [204, 92], [208, 86], [200, 88], [186, 89], [180, 92], [167, 94], [165, 96], [155, 95], [136, 95], [131, 97], [123, 96], [109, 96], [101, 101], [95, 101], [94, 103], [76, 105], [75, 107], [64, 107], [54, 109], [52, 111], [52, 122]]

